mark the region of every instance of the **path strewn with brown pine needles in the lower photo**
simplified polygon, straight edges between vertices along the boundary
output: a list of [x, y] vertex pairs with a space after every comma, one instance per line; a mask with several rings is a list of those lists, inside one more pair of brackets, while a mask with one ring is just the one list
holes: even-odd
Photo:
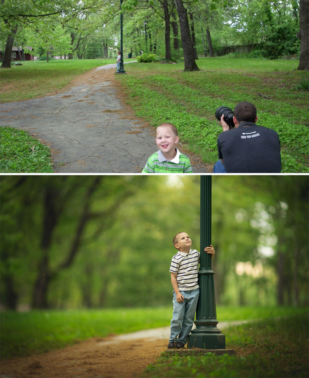
[[[218, 328], [243, 321], [220, 322]], [[169, 327], [92, 338], [41, 355], [1, 363], [1, 378], [110, 377], [134, 378], [166, 350]]]

